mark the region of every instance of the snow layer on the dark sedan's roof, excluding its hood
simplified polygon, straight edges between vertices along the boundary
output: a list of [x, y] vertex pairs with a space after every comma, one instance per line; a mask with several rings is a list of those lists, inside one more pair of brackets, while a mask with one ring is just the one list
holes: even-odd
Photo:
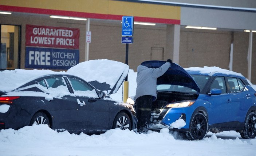
[[48, 74], [65, 74], [65, 72], [54, 72], [51, 70], [26, 70], [26, 69], [15, 69], [5, 70], [0, 72], [0, 91], [12, 91], [21, 85], [28, 83], [29, 81], [39, 78], [43, 75]]

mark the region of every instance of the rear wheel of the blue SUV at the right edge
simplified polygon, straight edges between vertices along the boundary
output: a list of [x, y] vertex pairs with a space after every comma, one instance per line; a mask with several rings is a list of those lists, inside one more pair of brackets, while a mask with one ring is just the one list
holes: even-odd
[[243, 139], [254, 139], [256, 136], [256, 113], [251, 112], [247, 115], [244, 122], [244, 129], [240, 132]]

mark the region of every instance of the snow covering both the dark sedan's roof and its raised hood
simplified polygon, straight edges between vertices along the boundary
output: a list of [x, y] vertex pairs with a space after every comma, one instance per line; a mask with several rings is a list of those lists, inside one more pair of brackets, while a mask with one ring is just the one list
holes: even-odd
[[[90, 82], [97, 80], [99, 83], [107, 83], [111, 88], [122, 85], [129, 72], [129, 66], [113, 60], [90, 60], [79, 63], [68, 69], [67, 72], [55, 72], [51, 70], [26, 70], [15, 69], [0, 72], [0, 91], [9, 92], [28, 83], [29, 81], [49, 74], [68, 74], [81, 77]], [[122, 73], [124, 73], [122, 75]], [[120, 81], [118, 81], [120, 79]], [[116, 84], [118, 82], [118, 84]], [[119, 87], [118, 87], [119, 88]], [[118, 89], [117, 87], [115, 89]]]

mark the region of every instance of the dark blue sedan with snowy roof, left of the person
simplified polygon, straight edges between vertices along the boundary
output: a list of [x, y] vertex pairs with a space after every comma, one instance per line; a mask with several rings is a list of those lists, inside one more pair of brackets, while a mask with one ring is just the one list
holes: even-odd
[[[128, 70], [129, 67], [123, 71]], [[125, 73], [120, 72], [123, 76], [118, 76], [114, 85], [91, 83], [115, 93], [128, 74]], [[0, 129], [47, 124], [56, 131], [95, 134], [112, 128], [132, 130], [136, 127], [132, 105], [111, 99], [78, 76], [16, 69], [2, 71], [0, 77]]]

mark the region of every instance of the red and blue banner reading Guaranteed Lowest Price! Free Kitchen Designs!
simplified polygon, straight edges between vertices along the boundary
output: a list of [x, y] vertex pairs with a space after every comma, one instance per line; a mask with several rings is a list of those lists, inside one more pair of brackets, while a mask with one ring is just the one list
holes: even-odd
[[25, 68], [69, 69], [79, 63], [79, 29], [26, 25]]

